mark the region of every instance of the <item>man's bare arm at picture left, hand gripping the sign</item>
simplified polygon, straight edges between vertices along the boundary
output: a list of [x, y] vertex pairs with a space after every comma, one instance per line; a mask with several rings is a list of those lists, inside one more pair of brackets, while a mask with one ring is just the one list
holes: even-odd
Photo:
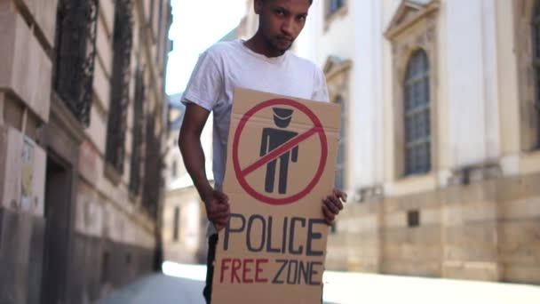
[[217, 230], [224, 228], [229, 218], [228, 197], [211, 187], [206, 177], [201, 133], [210, 112], [201, 106], [188, 103], [179, 133], [179, 148], [187, 172], [195, 184], [206, 207], [206, 215]]

